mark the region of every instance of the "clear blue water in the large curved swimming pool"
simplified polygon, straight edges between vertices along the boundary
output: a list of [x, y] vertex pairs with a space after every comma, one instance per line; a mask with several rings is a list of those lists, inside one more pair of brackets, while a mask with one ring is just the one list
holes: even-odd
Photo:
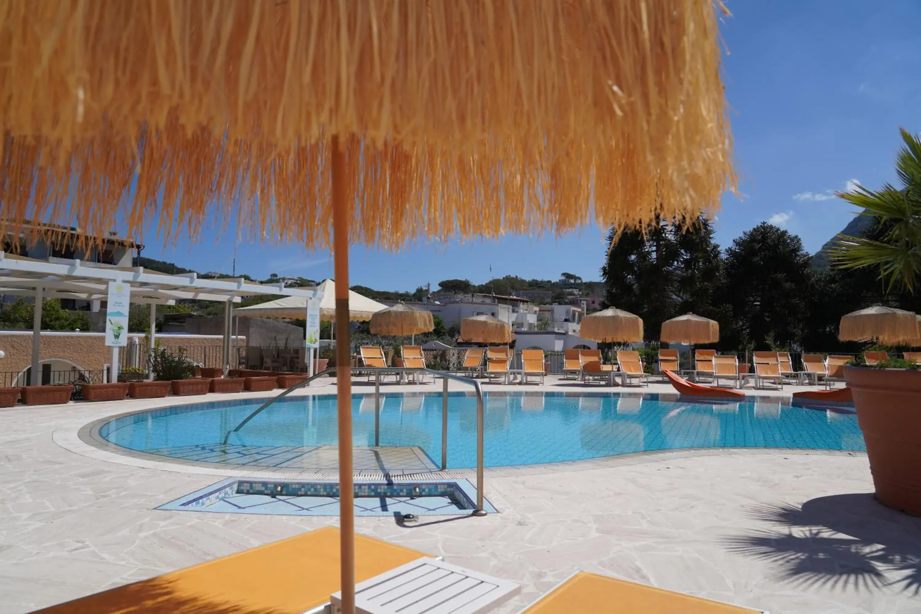
[[[485, 464], [531, 465], [694, 447], [865, 450], [851, 405], [791, 407], [777, 399], [689, 402], [672, 395], [487, 395]], [[199, 403], [135, 413], [99, 434], [132, 450], [199, 462], [298, 467], [315, 446], [335, 445], [334, 396], [287, 398], [224, 437], [261, 401]], [[374, 445], [374, 397], [352, 401], [353, 441]], [[449, 468], [476, 464], [476, 400], [449, 395]], [[381, 396], [380, 446], [418, 446], [441, 458], [441, 395]], [[229, 450], [229, 451], [228, 451]]]

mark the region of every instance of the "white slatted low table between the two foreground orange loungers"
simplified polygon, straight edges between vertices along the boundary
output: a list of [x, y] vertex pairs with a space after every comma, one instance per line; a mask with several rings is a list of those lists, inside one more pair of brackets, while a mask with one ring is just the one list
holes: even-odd
[[[424, 557], [356, 585], [356, 614], [484, 614], [521, 587], [485, 573]], [[339, 614], [342, 594], [332, 595]]]

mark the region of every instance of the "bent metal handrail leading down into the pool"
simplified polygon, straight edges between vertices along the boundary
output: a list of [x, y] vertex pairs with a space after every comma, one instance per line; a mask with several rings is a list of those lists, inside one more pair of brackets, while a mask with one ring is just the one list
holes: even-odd
[[[268, 400], [262, 403], [258, 409], [253, 411], [250, 415], [244, 418], [237, 426], [235, 426], [230, 431], [227, 431], [227, 434], [224, 436], [224, 445], [227, 446], [227, 442], [230, 439], [230, 434], [237, 433], [241, 428], [243, 428], [246, 423], [249, 423], [253, 418], [255, 418], [262, 410], [267, 408], [269, 405], [272, 405], [276, 400], [284, 399], [286, 396], [297, 390], [297, 388], [303, 388], [311, 381], [317, 377], [325, 376], [327, 374], [335, 373], [337, 370], [336, 367], [331, 366], [327, 369], [323, 369], [320, 373], [314, 374], [313, 376], [308, 377], [302, 382], [299, 382], [282, 391], [277, 397], [272, 400]], [[483, 417], [483, 388], [480, 388], [480, 382], [470, 377], [457, 376], [453, 373], [448, 373], [447, 371], [437, 371], [435, 369], [429, 368], [414, 368], [414, 367], [405, 367], [405, 366], [394, 366], [394, 367], [360, 367], [358, 369], [363, 372], [374, 373], [374, 445], [379, 446], [380, 444], [380, 375], [388, 373], [430, 373], [433, 377], [441, 377], [444, 379], [444, 386], [441, 392], [441, 469], [448, 469], [448, 380], [453, 379], [455, 381], [461, 382], [462, 384], [469, 384], [473, 387], [473, 391], [476, 393], [476, 510], [473, 512], [475, 516], [485, 516], [486, 510], [483, 504], [483, 481], [484, 481], [484, 417]]]

